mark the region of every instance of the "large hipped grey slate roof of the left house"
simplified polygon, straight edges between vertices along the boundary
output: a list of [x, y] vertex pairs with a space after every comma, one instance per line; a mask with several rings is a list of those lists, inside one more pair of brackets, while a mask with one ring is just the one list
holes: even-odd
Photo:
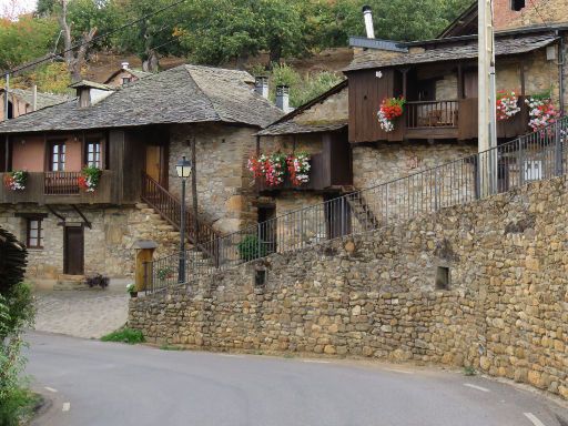
[[0, 133], [226, 122], [264, 128], [283, 112], [245, 71], [180, 65], [139, 80], [89, 108], [75, 100], [0, 124]]

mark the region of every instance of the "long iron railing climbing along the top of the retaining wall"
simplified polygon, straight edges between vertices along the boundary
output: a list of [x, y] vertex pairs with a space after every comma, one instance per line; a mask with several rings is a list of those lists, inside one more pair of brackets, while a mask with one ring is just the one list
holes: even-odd
[[[185, 256], [184, 283], [242, 263], [359, 234], [394, 221], [465, 204], [491, 194], [566, 173], [568, 118], [548, 128], [474, 155], [390, 182], [301, 209], [203, 245], [215, 262], [196, 250]], [[493, 171], [493, 172], [491, 172]], [[150, 292], [179, 284], [180, 255], [146, 265]], [[163, 277], [164, 267], [171, 272]]]

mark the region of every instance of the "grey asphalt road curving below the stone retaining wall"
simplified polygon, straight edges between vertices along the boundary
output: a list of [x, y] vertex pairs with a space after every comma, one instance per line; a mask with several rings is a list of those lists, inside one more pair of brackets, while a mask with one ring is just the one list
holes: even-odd
[[[161, 351], [30, 334], [42, 426], [552, 426], [568, 412], [504, 383], [377, 363]], [[562, 425], [564, 426], [564, 425]]]

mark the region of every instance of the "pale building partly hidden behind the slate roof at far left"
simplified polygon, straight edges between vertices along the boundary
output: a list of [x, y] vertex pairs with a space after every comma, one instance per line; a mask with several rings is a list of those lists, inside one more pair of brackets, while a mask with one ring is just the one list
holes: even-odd
[[[36, 89], [10, 89], [8, 94], [8, 119], [68, 102], [69, 97], [38, 92]], [[0, 89], [0, 121], [4, 120], [6, 89]]]

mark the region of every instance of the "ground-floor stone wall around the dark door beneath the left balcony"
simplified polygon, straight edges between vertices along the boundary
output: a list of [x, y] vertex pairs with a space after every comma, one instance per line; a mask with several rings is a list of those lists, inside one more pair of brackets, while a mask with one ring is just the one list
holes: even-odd
[[[132, 276], [134, 251], [138, 240], [158, 242], [156, 256], [173, 254], [179, 246], [179, 233], [162, 221], [151, 209], [80, 206], [91, 222], [84, 227], [84, 272], [111, 277]], [[67, 223], [80, 224], [83, 220], [70, 207], [57, 206]], [[63, 227], [61, 220], [40, 206], [0, 206], [0, 225], [26, 242], [27, 220], [18, 214], [47, 214], [42, 220], [43, 248], [29, 248], [28, 278], [57, 280], [63, 274]]]

